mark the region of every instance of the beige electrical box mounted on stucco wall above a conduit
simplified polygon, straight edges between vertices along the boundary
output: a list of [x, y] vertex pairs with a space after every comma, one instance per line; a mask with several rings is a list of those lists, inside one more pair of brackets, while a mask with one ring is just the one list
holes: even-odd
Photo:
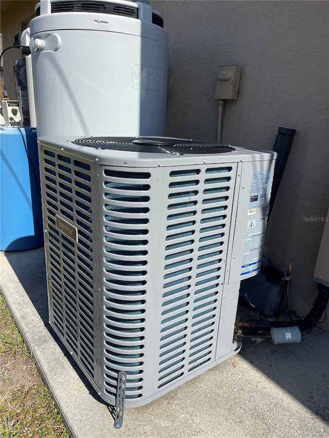
[[235, 100], [239, 91], [241, 67], [225, 65], [218, 69], [215, 99]]

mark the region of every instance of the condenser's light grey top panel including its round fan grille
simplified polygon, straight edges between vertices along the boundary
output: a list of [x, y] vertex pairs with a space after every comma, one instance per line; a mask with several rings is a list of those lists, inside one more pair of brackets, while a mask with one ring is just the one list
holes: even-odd
[[41, 146], [60, 148], [98, 164], [163, 167], [272, 160], [273, 151], [171, 137], [41, 136]]

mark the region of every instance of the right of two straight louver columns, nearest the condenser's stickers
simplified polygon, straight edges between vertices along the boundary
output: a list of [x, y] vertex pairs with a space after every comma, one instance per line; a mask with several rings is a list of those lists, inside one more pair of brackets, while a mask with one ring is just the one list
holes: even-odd
[[227, 253], [231, 215], [228, 204], [231, 179], [232, 167], [210, 167], [205, 170], [199, 216], [189, 371], [214, 358], [217, 336], [215, 320], [221, 304], [217, 295], [224, 277], [223, 259]]

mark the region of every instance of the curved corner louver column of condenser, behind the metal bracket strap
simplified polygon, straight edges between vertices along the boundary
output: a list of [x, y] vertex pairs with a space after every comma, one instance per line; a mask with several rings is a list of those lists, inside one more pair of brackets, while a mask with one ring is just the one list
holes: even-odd
[[123, 370], [126, 399], [143, 394], [150, 177], [104, 170], [105, 391], [115, 397]]

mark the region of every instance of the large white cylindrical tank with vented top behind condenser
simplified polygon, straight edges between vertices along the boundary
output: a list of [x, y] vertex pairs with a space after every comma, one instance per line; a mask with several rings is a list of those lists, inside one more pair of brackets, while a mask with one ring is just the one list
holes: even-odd
[[41, 0], [30, 22], [38, 136], [165, 135], [168, 34], [124, 0]]

